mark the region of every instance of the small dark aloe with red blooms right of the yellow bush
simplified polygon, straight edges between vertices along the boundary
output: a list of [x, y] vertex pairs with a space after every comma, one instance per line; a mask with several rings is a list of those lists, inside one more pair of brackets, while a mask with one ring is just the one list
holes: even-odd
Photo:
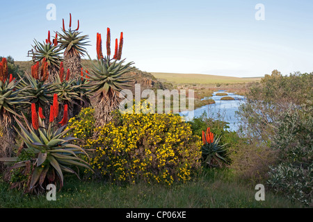
[[221, 136], [214, 137], [214, 134], [211, 133], [210, 128], [207, 128], [207, 133], [204, 133], [204, 131], [202, 131], [203, 145], [201, 151], [204, 166], [220, 167], [223, 162], [227, 162], [224, 157], [226, 151], [225, 146], [227, 144], [219, 144], [220, 137]]

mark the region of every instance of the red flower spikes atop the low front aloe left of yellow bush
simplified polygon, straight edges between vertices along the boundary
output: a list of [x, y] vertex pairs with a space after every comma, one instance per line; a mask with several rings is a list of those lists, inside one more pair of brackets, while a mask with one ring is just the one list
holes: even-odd
[[[53, 105], [50, 105], [50, 116], [49, 116], [49, 123], [52, 123], [56, 117], [58, 117], [58, 95], [54, 94], [54, 101]], [[35, 103], [31, 103], [31, 123], [33, 125], [33, 128], [35, 130], [38, 130], [39, 128], [39, 123], [38, 123], [38, 114], [40, 119], [45, 119], [45, 116], [43, 115], [42, 108], [40, 107], [38, 109], [38, 113], [36, 110]], [[59, 124], [61, 126], [64, 126], [67, 123], [67, 105], [64, 105], [64, 112], [63, 112], [63, 119]]]

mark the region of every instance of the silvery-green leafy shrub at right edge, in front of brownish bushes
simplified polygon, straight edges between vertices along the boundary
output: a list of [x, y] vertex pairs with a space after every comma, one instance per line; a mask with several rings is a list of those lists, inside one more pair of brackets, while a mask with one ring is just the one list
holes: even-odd
[[[297, 107], [298, 108], [298, 107]], [[280, 164], [271, 167], [268, 185], [292, 200], [313, 205], [312, 107], [283, 112], [273, 148], [280, 151]]]

